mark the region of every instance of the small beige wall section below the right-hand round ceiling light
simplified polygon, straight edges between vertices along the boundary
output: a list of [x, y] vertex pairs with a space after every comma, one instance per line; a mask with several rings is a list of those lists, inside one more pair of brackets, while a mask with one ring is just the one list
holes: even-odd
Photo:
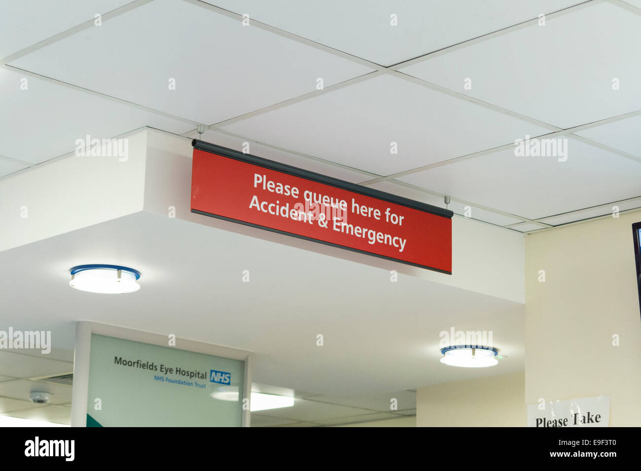
[[417, 427], [523, 427], [524, 373], [436, 384], [417, 390]]

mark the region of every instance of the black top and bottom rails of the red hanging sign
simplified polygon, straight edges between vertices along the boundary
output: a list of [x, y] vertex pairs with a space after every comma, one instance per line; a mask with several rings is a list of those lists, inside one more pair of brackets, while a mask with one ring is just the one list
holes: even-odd
[[[452, 219], [454, 215], [453, 211], [445, 210], [444, 208], [439, 208], [438, 206], [432, 206], [431, 204], [427, 204], [424, 202], [413, 201], [412, 199], [404, 198], [402, 196], [381, 192], [379, 190], [374, 190], [373, 188], [367, 188], [367, 186], [356, 185], [356, 183], [350, 183], [349, 181], [328, 177], [326, 175], [318, 174], [316, 172], [310, 172], [309, 170], [299, 169], [298, 167], [287, 165], [286, 163], [279, 163], [274, 160], [265, 159], [265, 158], [251, 155], [251, 154], [243, 154], [241, 152], [235, 151], [234, 149], [229, 149], [228, 147], [222, 147], [221, 145], [211, 144], [209, 142], [204, 142], [198, 139], [194, 139], [192, 140], [192, 146], [194, 147], [194, 149], [198, 149], [199, 151], [205, 151], [205, 152], [217, 154], [223, 157], [232, 158], [234, 160], [240, 160], [242, 162], [251, 163], [253, 165], [258, 165], [259, 167], [264, 167], [265, 169], [276, 170], [276, 172], [281, 172], [281, 173], [285, 173], [295, 177], [304, 178], [310, 181], [315, 181], [317, 183], [323, 183], [324, 185], [334, 186], [335, 188], [339, 188], [341, 190], [347, 190], [347, 191], [361, 194], [364, 196], [380, 199], [382, 201], [399, 204], [401, 206], [406, 206], [407, 208], [412, 208], [414, 210], [419, 210], [425, 213], [430, 213], [440, 217], [445, 217], [447, 219]], [[338, 247], [340, 249], [349, 250], [352, 252], [358, 252], [361, 254], [375, 256], [378, 258], [383, 258], [385, 260], [397, 261], [399, 263], [404, 263], [404, 265], [412, 265], [413, 267], [432, 270], [432, 271], [444, 273], [447, 275], [452, 274], [452, 272], [436, 269], [434, 267], [419, 265], [418, 263], [399, 260], [397, 258], [387, 257], [387, 256], [375, 254], [373, 252], [366, 252], [359, 249], [353, 249], [352, 247], [345, 247], [344, 245], [332, 244], [331, 242], [325, 242], [324, 240], [301, 236], [301, 235], [290, 233], [290, 232], [279, 231], [278, 229], [272, 229], [271, 227], [259, 226], [258, 224], [252, 224], [251, 222], [245, 222], [238, 219], [231, 219], [221, 215], [207, 213], [205, 211], [192, 209], [191, 212], [196, 214], [201, 214], [204, 216], [215, 217], [217, 219], [222, 219], [229, 222], [236, 222], [238, 224], [243, 224], [244, 226], [256, 227], [257, 229], [263, 229], [266, 231], [271, 231], [271, 232], [282, 234], [282, 235], [288, 235], [288, 236], [296, 237], [303, 240], [310, 240], [312, 242], [329, 245], [331, 247]]]

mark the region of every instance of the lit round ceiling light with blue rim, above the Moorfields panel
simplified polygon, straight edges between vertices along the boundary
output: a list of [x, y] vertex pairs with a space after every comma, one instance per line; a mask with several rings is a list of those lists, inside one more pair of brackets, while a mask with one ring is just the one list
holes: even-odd
[[137, 270], [119, 265], [78, 265], [71, 269], [69, 286], [90, 293], [133, 293], [140, 289]]

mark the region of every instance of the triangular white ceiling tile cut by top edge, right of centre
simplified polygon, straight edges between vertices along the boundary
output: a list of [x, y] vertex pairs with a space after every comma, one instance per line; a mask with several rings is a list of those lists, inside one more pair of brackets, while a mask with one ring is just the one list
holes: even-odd
[[[578, 0], [207, 0], [381, 65], [560, 10]], [[397, 26], [392, 26], [396, 15]]]

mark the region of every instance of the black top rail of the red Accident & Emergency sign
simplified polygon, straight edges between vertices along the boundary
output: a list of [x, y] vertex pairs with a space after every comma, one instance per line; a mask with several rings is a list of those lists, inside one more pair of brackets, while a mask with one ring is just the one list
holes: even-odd
[[253, 163], [254, 165], [258, 165], [259, 167], [265, 167], [265, 169], [276, 170], [277, 172], [282, 172], [285, 174], [293, 175], [295, 177], [308, 179], [317, 183], [324, 183], [325, 185], [334, 186], [335, 188], [340, 188], [341, 190], [347, 190], [372, 198], [382, 199], [383, 201], [400, 204], [401, 206], [406, 206], [407, 208], [423, 211], [425, 213], [447, 217], [449, 219], [452, 219], [452, 216], [454, 215], [453, 211], [445, 210], [444, 208], [439, 208], [438, 206], [432, 206], [431, 204], [427, 204], [424, 202], [413, 201], [412, 199], [404, 198], [402, 196], [381, 192], [379, 190], [374, 190], [373, 188], [367, 188], [367, 186], [356, 185], [356, 183], [349, 183], [349, 181], [317, 174], [316, 172], [310, 172], [309, 170], [299, 169], [298, 167], [287, 165], [286, 163], [279, 163], [251, 154], [243, 154], [242, 152], [228, 149], [228, 147], [222, 147], [221, 145], [210, 144], [209, 142], [194, 139], [192, 140], [192, 146], [194, 146], [194, 149], [198, 149], [199, 151], [205, 151], [212, 154], [222, 155], [224, 157], [229, 157], [235, 160]]

